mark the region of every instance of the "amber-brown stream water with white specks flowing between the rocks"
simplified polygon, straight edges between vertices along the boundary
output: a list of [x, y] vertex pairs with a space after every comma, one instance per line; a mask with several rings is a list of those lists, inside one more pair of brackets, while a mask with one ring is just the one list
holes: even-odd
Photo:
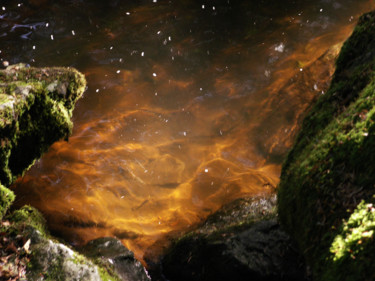
[[0, 60], [73, 66], [69, 142], [12, 187], [72, 245], [143, 259], [223, 204], [268, 194], [369, 0], [1, 1]]

